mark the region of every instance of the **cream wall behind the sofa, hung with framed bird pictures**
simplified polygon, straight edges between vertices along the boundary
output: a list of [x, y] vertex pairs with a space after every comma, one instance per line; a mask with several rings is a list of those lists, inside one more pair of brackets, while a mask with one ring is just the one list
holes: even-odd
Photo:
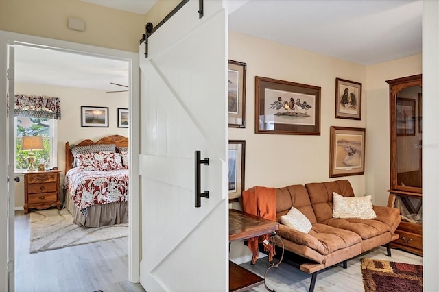
[[[246, 128], [229, 129], [230, 139], [246, 140], [245, 187], [281, 187], [336, 180], [329, 178], [329, 129], [331, 125], [366, 127], [364, 105], [368, 94], [363, 88], [361, 121], [335, 119], [335, 78], [353, 80], [365, 86], [366, 66], [237, 32], [229, 32], [229, 59], [247, 63]], [[254, 134], [255, 76], [320, 86], [320, 136]], [[370, 134], [366, 130], [366, 141]], [[345, 178], [351, 182], [356, 195], [365, 193], [364, 175]], [[239, 208], [238, 204], [233, 208]]]

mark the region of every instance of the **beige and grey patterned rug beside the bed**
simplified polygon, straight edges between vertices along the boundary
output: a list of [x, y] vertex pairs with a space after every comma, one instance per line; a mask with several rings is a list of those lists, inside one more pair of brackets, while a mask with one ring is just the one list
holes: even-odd
[[87, 228], [73, 224], [66, 209], [30, 212], [30, 253], [128, 236], [128, 224]]

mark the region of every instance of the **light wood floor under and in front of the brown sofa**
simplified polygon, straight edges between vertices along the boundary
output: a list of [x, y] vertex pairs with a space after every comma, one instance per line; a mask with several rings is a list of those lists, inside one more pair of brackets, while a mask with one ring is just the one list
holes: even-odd
[[[389, 257], [387, 256], [385, 247], [377, 247], [375, 250], [371, 250], [370, 252], [366, 252], [348, 260], [347, 269], [343, 269], [342, 265], [339, 265], [318, 273], [314, 291], [364, 291], [363, 277], [361, 276], [361, 258], [376, 258], [415, 265], [423, 264], [423, 258], [421, 256], [416, 256], [415, 254], [410, 254], [402, 250], [392, 249], [392, 257]], [[250, 262], [248, 262], [241, 266], [250, 269], [250, 271], [263, 277], [267, 267], [269, 267], [268, 257], [260, 258], [256, 265], [251, 265]], [[309, 282], [311, 282], [311, 276], [309, 274], [286, 263], [281, 263], [279, 267], [270, 268], [266, 280], [268, 288], [274, 289], [278, 292], [308, 291]], [[267, 290], [264, 285], [261, 284], [249, 291], [262, 292]]]

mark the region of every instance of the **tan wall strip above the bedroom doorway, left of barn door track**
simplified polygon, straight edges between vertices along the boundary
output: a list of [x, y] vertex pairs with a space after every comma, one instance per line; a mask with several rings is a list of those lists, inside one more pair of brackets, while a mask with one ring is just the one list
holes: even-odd
[[[0, 0], [0, 30], [87, 45], [139, 51], [145, 33], [141, 14], [80, 0]], [[85, 32], [67, 28], [67, 19], [85, 21]]]

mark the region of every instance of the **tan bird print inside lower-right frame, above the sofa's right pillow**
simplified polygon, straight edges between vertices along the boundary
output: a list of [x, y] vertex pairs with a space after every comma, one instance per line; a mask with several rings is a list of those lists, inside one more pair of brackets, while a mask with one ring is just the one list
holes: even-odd
[[335, 141], [335, 169], [361, 167], [362, 136], [337, 134]]

